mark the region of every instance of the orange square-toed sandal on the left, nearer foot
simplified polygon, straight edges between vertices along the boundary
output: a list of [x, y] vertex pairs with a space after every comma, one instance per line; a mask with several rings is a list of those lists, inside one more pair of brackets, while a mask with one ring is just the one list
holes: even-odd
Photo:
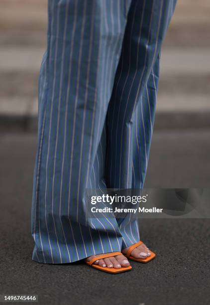
[[97, 260], [101, 260], [101, 259], [104, 259], [106, 257], [111, 257], [111, 256], [116, 256], [116, 255], [122, 255], [121, 252], [112, 252], [112, 253], [106, 253], [106, 254], [102, 254], [102, 255], [99, 255], [95, 258], [93, 258], [91, 261], [87, 261], [87, 259], [85, 260], [85, 263], [88, 264], [89, 266], [95, 268], [95, 269], [98, 269], [98, 270], [101, 270], [101, 271], [104, 271], [104, 272], [107, 272], [107, 273], [121, 273], [121, 272], [125, 272], [125, 271], [129, 271], [132, 269], [131, 266], [128, 266], [128, 267], [121, 267], [121, 268], [108, 268], [108, 267], [101, 267], [99, 265], [93, 265], [94, 262], [96, 262]]

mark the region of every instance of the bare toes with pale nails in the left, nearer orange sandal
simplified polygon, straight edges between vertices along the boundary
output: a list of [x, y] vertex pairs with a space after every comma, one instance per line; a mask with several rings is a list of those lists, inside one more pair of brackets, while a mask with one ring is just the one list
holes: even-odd
[[99, 265], [101, 267], [116, 268], [116, 269], [119, 269], [121, 267], [128, 267], [130, 265], [127, 258], [124, 255], [110, 256], [101, 260], [97, 260], [97, 256], [99, 255], [89, 256], [87, 258], [87, 261], [91, 261], [93, 258], [96, 258], [96, 261], [94, 262], [95, 265]]

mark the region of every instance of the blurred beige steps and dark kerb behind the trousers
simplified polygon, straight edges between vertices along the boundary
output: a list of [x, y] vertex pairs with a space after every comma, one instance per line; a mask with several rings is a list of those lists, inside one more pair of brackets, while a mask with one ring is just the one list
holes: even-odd
[[[0, 0], [1, 129], [36, 131], [46, 30], [47, 0]], [[210, 127], [210, 0], [178, 0], [162, 49], [155, 127]]]

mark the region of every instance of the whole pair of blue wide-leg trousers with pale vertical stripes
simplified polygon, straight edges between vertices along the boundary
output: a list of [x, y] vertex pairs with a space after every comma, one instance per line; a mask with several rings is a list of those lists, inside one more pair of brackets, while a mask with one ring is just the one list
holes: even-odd
[[49, 0], [39, 77], [32, 259], [69, 263], [139, 241], [90, 218], [86, 189], [143, 187], [160, 49], [176, 0]]

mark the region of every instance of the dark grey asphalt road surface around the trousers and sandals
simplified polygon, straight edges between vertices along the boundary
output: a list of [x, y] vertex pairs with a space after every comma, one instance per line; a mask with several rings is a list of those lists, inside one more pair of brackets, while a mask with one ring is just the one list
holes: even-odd
[[[210, 220], [143, 219], [148, 264], [110, 275], [82, 262], [33, 262], [30, 235], [35, 134], [0, 134], [0, 294], [39, 304], [209, 305]], [[209, 187], [210, 130], [155, 131], [146, 187]]]

